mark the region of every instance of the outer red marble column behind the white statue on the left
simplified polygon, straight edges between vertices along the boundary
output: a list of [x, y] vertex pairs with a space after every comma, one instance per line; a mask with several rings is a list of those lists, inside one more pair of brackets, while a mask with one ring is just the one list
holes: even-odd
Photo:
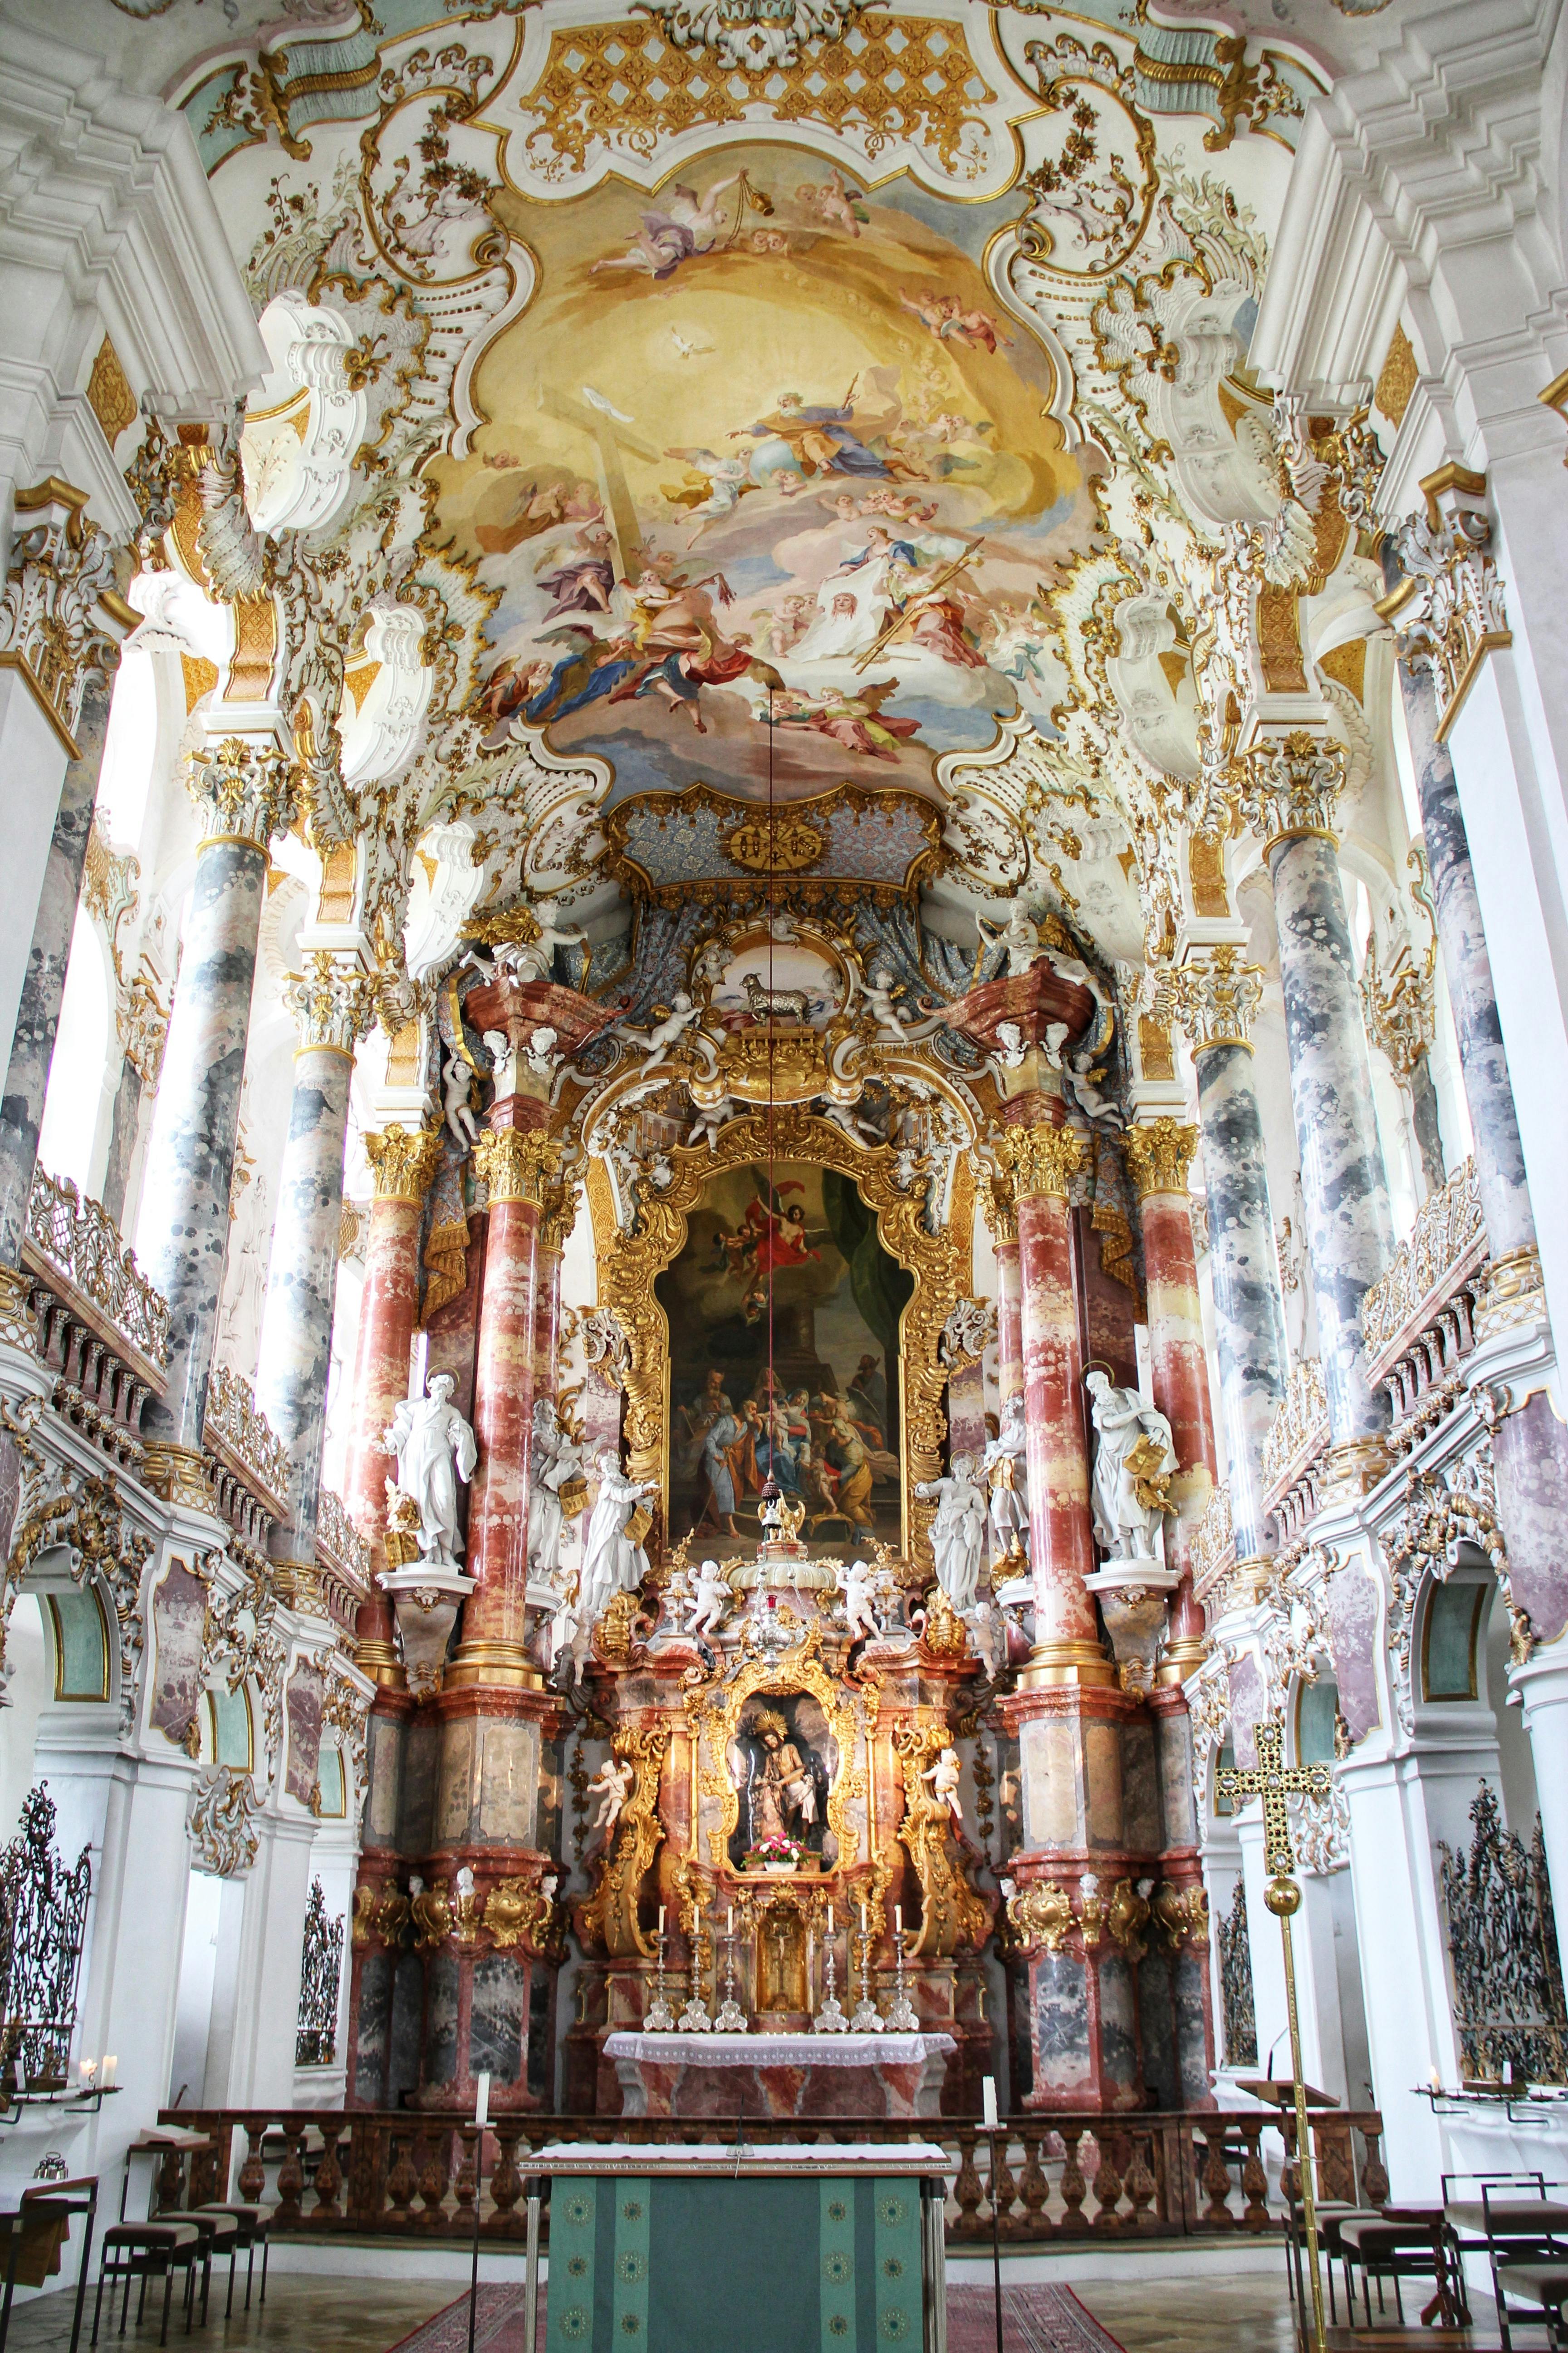
[[[442, 1158], [440, 1127], [414, 1132], [393, 1122], [364, 1136], [376, 1193], [364, 1245], [364, 1292], [355, 1365], [353, 1426], [348, 1438], [346, 1506], [376, 1569], [386, 1567], [386, 1482], [397, 1459], [383, 1433], [409, 1393], [409, 1351], [418, 1322], [418, 1226], [425, 1195]], [[404, 1673], [393, 1642], [393, 1605], [371, 1581], [360, 1605], [355, 1664], [383, 1689], [402, 1689]]]

